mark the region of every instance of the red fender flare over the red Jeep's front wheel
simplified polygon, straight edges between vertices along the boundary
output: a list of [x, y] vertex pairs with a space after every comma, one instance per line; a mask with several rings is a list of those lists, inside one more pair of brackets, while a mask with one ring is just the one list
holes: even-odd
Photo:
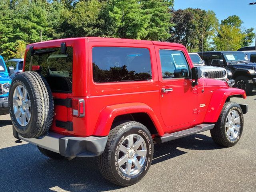
[[215, 123], [218, 121], [220, 112], [226, 99], [228, 97], [240, 97], [246, 98], [246, 93], [242, 89], [237, 88], [221, 88], [214, 90], [212, 93], [212, 98], [208, 106], [204, 122]]

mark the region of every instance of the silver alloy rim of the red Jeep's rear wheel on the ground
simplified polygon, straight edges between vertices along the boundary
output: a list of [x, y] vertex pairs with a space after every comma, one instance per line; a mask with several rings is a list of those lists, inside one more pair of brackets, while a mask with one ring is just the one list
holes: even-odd
[[118, 150], [118, 166], [124, 174], [136, 175], [140, 172], [147, 156], [144, 139], [137, 134], [130, 134], [122, 141]]

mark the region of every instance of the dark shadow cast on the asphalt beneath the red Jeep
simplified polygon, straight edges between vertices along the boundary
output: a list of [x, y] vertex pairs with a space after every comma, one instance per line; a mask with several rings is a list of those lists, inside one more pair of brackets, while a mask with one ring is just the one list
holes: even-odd
[[[186, 153], [177, 147], [192, 150], [218, 148], [210, 137], [196, 134], [155, 144], [152, 164]], [[0, 191], [52, 191], [56, 186], [71, 192], [100, 192], [120, 188], [102, 178], [96, 157], [52, 160], [43, 156], [36, 146], [23, 144], [0, 149], [0, 159]]]

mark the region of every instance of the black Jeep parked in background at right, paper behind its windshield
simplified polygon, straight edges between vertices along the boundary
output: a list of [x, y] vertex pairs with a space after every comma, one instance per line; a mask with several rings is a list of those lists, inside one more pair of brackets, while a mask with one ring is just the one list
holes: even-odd
[[247, 95], [252, 94], [256, 86], [256, 63], [250, 63], [244, 52], [219, 51], [198, 52], [206, 65], [224, 67], [232, 72], [235, 80], [233, 87], [243, 89]]

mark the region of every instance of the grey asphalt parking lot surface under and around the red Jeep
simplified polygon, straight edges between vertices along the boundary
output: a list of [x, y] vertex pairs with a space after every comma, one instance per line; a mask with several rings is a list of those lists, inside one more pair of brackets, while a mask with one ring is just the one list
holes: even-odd
[[256, 191], [256, 92], [246, 100], [244, 132], [232, 148], [216, 146], [210, 131], [154, 146], [154, 159], [137, 184], [121, 188], [105, 181], [97, 158], [52, 160], [36, 146], [15, 143], [9, 115], [0, 116], [0, 191]]

